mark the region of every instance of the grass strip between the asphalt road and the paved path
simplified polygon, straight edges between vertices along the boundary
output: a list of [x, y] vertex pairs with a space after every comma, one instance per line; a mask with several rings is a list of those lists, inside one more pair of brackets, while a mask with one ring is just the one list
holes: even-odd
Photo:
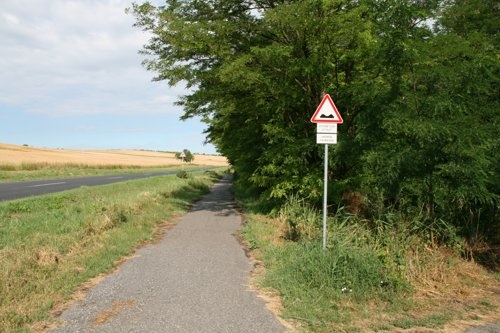
[[215, 179], [154, 177], [0, 203], [0, 331], [50, 324], [55, 305], [151, 241]]

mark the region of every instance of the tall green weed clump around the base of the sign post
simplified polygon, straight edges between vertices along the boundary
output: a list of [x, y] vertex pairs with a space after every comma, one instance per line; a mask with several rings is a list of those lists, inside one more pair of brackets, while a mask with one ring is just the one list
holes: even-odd
[[346, 296], [356, 301], [389, 300], [409, 292], [402, 270], [394, 264], [398, 258], [391, 257], [384, 237], [354, 221], [353, 215], [339, 211], [337, 216], [328, 220], [323, 250], [319, 212], [291, 197], [278, 214], [288, 242], [276, 249], [281, 259], [266, 275], [266, 283], [292, 292], [297, 288], [323, 291], [330, 300]]

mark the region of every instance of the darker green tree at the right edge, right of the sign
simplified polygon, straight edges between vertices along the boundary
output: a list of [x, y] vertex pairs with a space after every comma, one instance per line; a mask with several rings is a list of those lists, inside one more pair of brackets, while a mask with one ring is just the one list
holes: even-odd
[[[382, 191], [386, 205], [427, 226], [439, 220], [493, 237], [500, 164], [496, 3], [439, 1], [424, 25], [397, 26], [389, 18], [395, 33], [408, 35], [398, 38], [399, 50], [391, 48], [397, 60], [386, 65], [396, 74], [394, 98], [381, 109], [384, 137], [363, 156], [366, 188]], [[400, 18], [418, 12], [399, 11]], [[381, 28], [390, 41], [391, 28]]]

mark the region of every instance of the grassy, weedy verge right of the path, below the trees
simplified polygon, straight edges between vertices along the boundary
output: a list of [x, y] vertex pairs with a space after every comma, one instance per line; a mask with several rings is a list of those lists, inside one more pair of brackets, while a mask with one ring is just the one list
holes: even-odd
[[[242, 203], [245, 207], [245, 203]], [[417, 236], [339, 211], [328, 220], [292, 198], [278, 213], [247, 214], [242, 230], [265, 267], [256, 284], [278, 294], [304, 332], [463, 332], [500, 322], [498, 275]]]

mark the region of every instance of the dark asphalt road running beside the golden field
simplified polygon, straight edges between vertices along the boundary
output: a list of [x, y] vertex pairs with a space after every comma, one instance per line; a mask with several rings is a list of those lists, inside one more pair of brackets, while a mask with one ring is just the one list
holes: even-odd
[[[200, 168], [189, 171], [205, 171], [214, 169]], [[132, 179], [140, 179], [154, 176], [172, 175], [178, 170], [165, 172], [136, 173], [124, 175], [77, 177], [77, 178], [59, 178], [48, 180], [36, 180], [28, 182], [0, 183], [0, 201], [26, 198], [41, 194], [71, 190], [82, 186], [97, 186], [116, 182], [122, 182]]]

